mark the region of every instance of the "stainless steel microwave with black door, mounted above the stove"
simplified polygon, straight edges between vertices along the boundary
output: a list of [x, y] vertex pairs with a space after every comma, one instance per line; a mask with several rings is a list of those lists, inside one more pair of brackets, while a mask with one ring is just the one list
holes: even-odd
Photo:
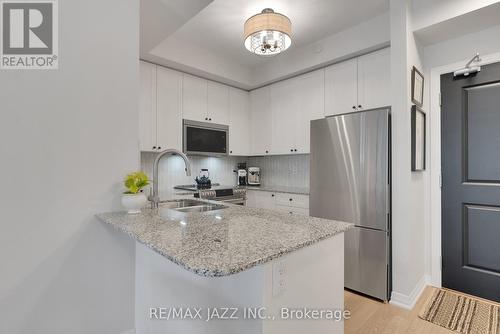
[[183, 151], [186, 154], [219, 156], [227, 155], [229, 127], [183, 120]]

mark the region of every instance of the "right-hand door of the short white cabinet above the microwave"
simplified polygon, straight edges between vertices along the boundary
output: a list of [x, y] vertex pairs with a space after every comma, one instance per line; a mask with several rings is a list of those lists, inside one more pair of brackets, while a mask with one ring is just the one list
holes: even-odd
[[229, 124], [229, 87], [217, 82], [207, 83], [207, 118], [216, 124]]

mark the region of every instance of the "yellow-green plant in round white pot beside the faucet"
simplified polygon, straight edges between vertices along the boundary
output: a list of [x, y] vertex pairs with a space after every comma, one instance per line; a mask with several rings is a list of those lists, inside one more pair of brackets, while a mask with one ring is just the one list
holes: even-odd
[[144, 194], [144, 187], [150, 183], [148, 176], [143, 172], [134, 172], [125, 176], [123, 184], [127, 188], [122, 195], [122, 205], [129, 214], [137, 214], [146, 205], [148, 199]]

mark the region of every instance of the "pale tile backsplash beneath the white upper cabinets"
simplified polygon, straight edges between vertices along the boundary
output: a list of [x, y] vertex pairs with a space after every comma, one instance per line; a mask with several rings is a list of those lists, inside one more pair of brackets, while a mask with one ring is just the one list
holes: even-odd
[[[141, 169], [153, 177], [153, 162], [156, 153], [141, 153]], [[180, 184], [194, 184], [200, 169], [207, 168], [214, 183], [235, 185], [236, 174], [233, 172], [239, 162], [246, 162], [247, 167], [261, 169], [261, 183], [266, 186], [289, 186], [309, 188], [309, 155], [279, 155], [266, 157], [204, 157], [190, 156], [191, 176], [186, 176], [184, 161], [178, 156], [164, 157], [160, 162], [159, 190], [161, 198], [171, 198], [173, 187]]]

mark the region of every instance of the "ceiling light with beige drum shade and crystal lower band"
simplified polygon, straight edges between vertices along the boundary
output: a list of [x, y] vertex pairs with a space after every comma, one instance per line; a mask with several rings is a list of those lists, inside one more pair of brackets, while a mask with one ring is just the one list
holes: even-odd
[[245, 48], [261, 55], [273, 56], [292, 44], [292, 22], [283, 14], [266, 8], [245, 22]]

